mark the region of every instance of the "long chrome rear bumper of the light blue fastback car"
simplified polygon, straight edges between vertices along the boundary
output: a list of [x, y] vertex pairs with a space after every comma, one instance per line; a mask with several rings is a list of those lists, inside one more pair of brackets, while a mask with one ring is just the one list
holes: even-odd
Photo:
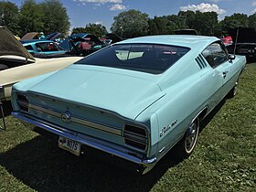
[[[139, 157], [130, 155], [130, 154], [134, 154], [134, 152], [131, 151], [131, 153], [130, 153], [129, 148], [121, 147], [121, 146], [119, 146], [119, 147], [114, 146], [113, 144], [109, 144], [107, 142], [100, 141], [100, 140], [97, 141], [96, 139], [92, 140], [91, 137], [86, 136], [84, 134], [69, 131], [63, 127], [59, 127], [59, 126], [51, 124], [51, 123], [46, 123], [37, 118], [32, 119], [31, 117], [27, 117], [26, 113], [23, 114], [22, 112], [12, 112], [12, 115], [14, 117], [16, 117], [17, 119], [22, 120], [25, 123], [31, 124], [32, 126], [30, 127], [30, 129], [32, 129], [32, 130], [35, 127], [39, 127], [45, 131], [57, 134], [59, 136], [69, 138], [70, 140], [76, 141], [80, 144], [85, 144], [87, 146], [91, 146], [92, 148], [101, 150], [108, 154], [119, 156], [119, 157], [121, 157], [125, 160], [128, 160], [128, 161], [131, 161], [135, 164], [144, 165], [145, 169], [144, 169], [143, 174], [145, 174], [149, 170], [151, 170], [151, 168], [154, 167], [154, 165], [157, 161], [156, 157], [149, 158], [149, 159], [147, 159], [147, 158], [141, 159]], [[111, 145], [113, 145], [113, 147], [111, 147]], [[123, 149], [123, 151], [117, 150], [115, 148]]]

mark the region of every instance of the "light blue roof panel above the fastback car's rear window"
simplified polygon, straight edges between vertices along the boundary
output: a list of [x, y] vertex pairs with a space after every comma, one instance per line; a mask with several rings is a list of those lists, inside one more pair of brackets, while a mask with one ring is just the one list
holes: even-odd
[[162, 36], [146, 36], [135, 37], [123, 40], [116, 44], [130, 43], [147, 43], [147, 44], [163, 44], [173, 45], [187, 48], [205, 48], [209, 44], [218, 41], [217, 37], [191, 36], [191, 35], [162, 35]]

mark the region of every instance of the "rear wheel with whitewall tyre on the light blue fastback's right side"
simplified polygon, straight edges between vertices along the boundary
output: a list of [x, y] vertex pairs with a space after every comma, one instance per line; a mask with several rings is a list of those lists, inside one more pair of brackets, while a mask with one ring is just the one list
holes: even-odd
[[177, 144], [176, 155], [180, 159], [187, 158], [192, 154], [197, 144], [199, 133], [199, 118], [197, 117], [187, 128], [187, 132]]

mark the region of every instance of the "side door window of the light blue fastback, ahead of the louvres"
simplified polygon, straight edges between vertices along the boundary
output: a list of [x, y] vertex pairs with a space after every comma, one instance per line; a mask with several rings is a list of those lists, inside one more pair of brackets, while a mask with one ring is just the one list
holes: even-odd
[[202, 54], [212, 68], [216, 68], [229, 59], [227, 50], [219, 43], [211, 44], [202, 52]]

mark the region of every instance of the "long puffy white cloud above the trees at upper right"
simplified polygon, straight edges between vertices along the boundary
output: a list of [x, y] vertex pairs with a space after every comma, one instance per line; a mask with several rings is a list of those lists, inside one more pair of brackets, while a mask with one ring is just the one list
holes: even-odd
[[181, 11], [200, 11], [200, 12], [216, 12], [219, 15], [225, 14], [226, 11], [224, 9], [219, 8], [216, 4], [199, 4], [199, 5], [187, 5], [187, 6], [180, 6]]

